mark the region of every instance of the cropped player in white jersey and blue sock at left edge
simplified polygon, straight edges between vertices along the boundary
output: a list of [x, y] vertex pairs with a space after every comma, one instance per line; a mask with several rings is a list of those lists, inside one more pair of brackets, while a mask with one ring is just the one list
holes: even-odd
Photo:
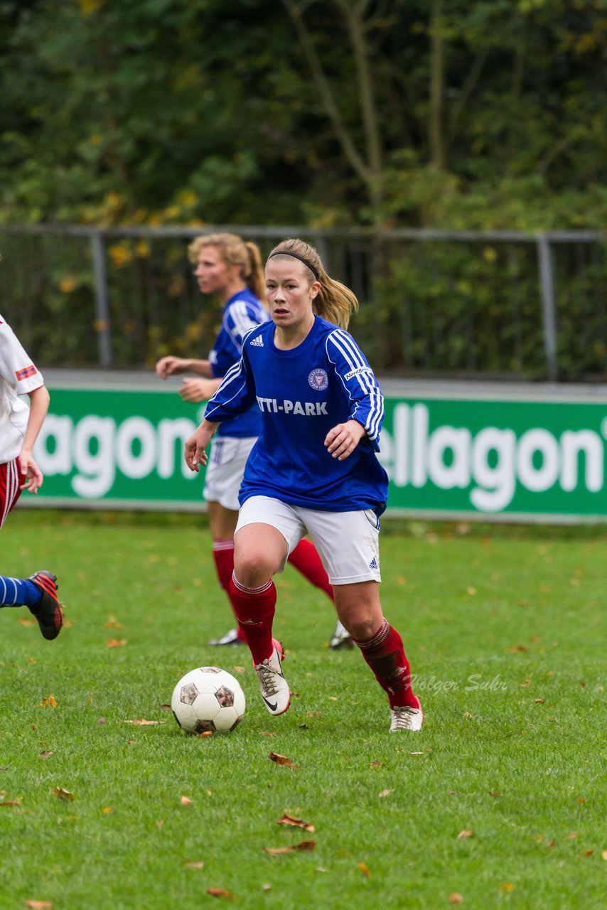
[[[29, 398], [29, 407], [22, 396]], [[43, 481], [32, 449], [48, 410], [41, 373], [0, 316], [0, 528], [22, 490], [37, 493]], [[0, 607], [29, 608], [46, 639], [63, 625], [56, 576], [42, 570], [29, 579], [0, 575]]]

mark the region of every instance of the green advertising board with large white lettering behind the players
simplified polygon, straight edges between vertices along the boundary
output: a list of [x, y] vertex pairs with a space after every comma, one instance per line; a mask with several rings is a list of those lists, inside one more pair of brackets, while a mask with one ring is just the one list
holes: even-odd
[[[202, 472], [183, 460], [203, 411], [164, 389], [51, 387], [37, 504], [204, 509]], [[606, 450], [600, 400], [389, 395], [388, 515], [607, 521]]]

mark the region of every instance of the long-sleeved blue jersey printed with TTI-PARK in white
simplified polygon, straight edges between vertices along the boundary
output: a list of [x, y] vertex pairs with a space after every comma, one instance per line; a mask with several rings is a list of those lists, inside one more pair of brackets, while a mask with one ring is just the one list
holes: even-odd
[[[257, 402], [262, 429], [240, 487], [240, 504], [272, 496], [319, 511], [386, 507], [388, 475], [379, 464], [383, 396], [351, 335], [315, 317], [297, 348], [274, 344], [273, 322], [248, 332], [242, 357], [208, 401], [206, 418], [232, 420]], [[367, 436], [339, 461], [324, 445], [329, 430], [358, 420]]]

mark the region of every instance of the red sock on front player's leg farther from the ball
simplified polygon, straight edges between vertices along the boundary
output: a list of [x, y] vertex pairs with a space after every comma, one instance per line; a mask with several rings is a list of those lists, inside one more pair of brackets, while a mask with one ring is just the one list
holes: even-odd
[[368, 642], [357, 642], [362, 656], [375, 673], [375, 678], [388, 693], [389, 706], [418, 708], [420, 703], [411, 689], [409, 661], [396, 629], [384, 620], [379, 632]]

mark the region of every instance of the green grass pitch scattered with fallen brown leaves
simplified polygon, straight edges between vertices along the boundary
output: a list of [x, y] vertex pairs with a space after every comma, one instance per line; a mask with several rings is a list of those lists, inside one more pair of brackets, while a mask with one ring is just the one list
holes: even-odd
[[[414, 734], [388, 733], [358, 652], [324, 647], [329, 603], [290, 567], [294, 697], [266, 712], [248, 652], [207, 646], [231, 616], [200, 519], [22, 510], [2, 541], [3, 573], [56, 571], [69, 624], [45, 642], [0, 612], [0, 907], [605, 906], [604, 529], [384, 522]], [[210, 663], [248, 707], [200, 739], [165, 705]]]

